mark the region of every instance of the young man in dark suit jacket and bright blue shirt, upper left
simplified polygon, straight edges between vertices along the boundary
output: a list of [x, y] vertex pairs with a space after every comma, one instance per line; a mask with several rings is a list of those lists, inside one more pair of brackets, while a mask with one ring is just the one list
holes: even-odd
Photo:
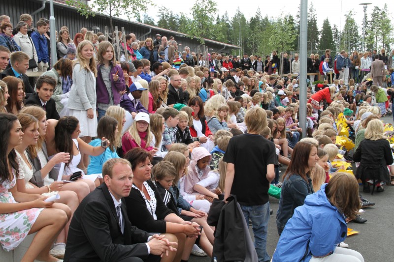
[[34, 93], [34, 89], [29, 83], [29, 77], [26, 75], [26, 71], [29, 68], [30, 57], [26, 53], [18, 51], [12, 53], [10, 59], [11, 67], [7, 70], [4, 70], [1, 73], [1, 76], [2, 78], [6, 76], [14, 76], [21, 79], [25, 85], [26, 97], [29, 97], [29, 94]]

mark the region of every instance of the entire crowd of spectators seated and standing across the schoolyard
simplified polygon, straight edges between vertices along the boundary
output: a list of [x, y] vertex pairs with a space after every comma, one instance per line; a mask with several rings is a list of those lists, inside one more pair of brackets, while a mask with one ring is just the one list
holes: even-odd
[[178, 51], [174, 37], [130, 33], [118, 60], [109, 36], [82, 28], [71, 39], [63, 26], [51, 67], [47, 19], [33, 27], [22, 14], [13, 28], [1, 15], [0, 30], [4, 250], [36, 233], [23, 262], [215, 258], [228, 241], [215, 239], [207, 214], [235, 195], [253, 252], [267, 262], [268, 194], [276, 189], [272, 261], [363, 262], [343, 241], [346, 223], [364, 223], [358, 210], [374, 205], [357, 179], [372, 194], [394, 184], [380, 120], [394, 106], [394, 51], [312, 54], [308, 72], [335, 71], [334, 83], [311, 85], [311, 75], [300, 97], [298, 55], [273, 51], [263, 62], [212, 52], [206, 60]]

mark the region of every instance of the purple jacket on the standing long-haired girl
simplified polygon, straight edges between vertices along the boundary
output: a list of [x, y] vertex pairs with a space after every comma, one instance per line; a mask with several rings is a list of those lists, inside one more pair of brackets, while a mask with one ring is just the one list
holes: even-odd
[[[97, 103], [109, 104], [109, 94], [107, 87], [105, 87], [104, 81], [102, 80], [102, 74], [100, 70], [100, 64], [97, 65], [97, 79], [96, 79], [96, 95], [97, 95]], [[118, 72], [118, 73], [116, 73]], [[117, 74], [119, 76], [118, 81], [114, 81], [113, 74]], [[120, 103], [120, 93], [121, 91], [126, 89], [125, 78], [123, 76], [123, 70], [120, 65], [113, 65], [111, 67], [111, 71], [109, 73], [109, 78], [111, 79], [111, 87], [112, 94], [114, 97], [115, 105], [119, 105]]]

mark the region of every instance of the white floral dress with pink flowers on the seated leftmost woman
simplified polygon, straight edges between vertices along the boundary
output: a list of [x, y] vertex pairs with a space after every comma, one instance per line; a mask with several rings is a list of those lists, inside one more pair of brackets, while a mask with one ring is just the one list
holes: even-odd
[[[0, 184], [0, 203], [17, 203], [8, 189], [16, 184], [15, 175], [11, 181]], [[5, 251], [19, 246], [32, 229], [35, 220], [44, 208], [32, 208], [14, 213], [0, 214], [0, 244]]]

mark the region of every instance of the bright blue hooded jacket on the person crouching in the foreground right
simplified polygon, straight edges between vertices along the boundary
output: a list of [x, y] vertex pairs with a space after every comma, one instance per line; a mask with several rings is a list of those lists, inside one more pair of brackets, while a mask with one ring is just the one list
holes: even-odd
[[326, 185], [296, 208], [279, 238], [273, 262], [308, 262], [312, 254], [326, 256], [345, 240], [345, 216], [329, 203]]

